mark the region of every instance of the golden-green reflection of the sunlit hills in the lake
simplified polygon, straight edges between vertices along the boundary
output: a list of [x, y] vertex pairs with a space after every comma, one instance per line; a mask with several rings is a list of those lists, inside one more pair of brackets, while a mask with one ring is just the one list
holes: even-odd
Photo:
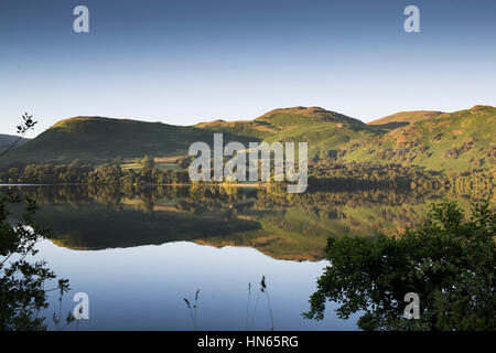
[[[430, 200], [429, 202], [434, 202]], [[215, 246], [251, 246], [283, 259], [320, 260], [328, 237], [344, 234], [374, 235], [403, 231], [425, 220], [429, 202], [400, 206], [341, 207], [334, 210], [292, 206], [284, 211], [265, 213], [257, 220], [261, 229], [196, 240]]]

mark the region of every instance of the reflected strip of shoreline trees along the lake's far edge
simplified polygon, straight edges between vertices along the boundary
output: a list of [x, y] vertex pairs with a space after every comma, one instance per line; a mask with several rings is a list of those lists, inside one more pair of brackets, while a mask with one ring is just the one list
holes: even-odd
[[[289, 194], [283, 185], [270, 188], [236, 188], [214, 185], [120, 188], [118, 185], [54, 185], [46, 188], [11, 186], [2, 192], [22, 192], [41, 204], [67, 203], [74, 208], [97, 202], [119, 210], [122, 202], [136, 204], [141, 210], [151, 210], [159, 200], [166, 200], [182, 211], [202, 213], [209, 211], [240, 210], [284, 210], [301, 206], [309, 210], [335, 210], [336, 207], [374, 207], [377, 205], [402, 206], [421, 203], [425, 197], [443, 196], [431, 191], [409, 192], [390, 190], [358, 190], [333, 192], [309, 190], [302, 194]], [[170, 201], [174, 201], [171, 203]]]

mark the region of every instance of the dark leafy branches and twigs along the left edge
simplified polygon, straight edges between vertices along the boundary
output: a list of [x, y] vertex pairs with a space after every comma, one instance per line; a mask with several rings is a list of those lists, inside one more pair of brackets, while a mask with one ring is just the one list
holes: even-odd
[[[28, 114], [23, 120], [18, 127], [21, 136], [36, 124]], [[54, 279], [55, 274], [44, 260], [31, 261], [31, 257], [37, 254], [36, 243], [46, 237], [47, 231], [34, 223], [36, 205], [29, 197], [25, 199], [25, 213], [21, 221], [11, 224], [9, 205], [18, 202], [20, 199], [15, 195], [0, 200], [0, 330], [45, 330], [45, 318], [39, 314], [48, 307], [47, 292], [51, 289], [46, 290], [45, 284]], [[58, 280], [58, 287], [52, 290], [56, 289], [62, 296], [69, 290], [68, 281]], [[73, 320], [68, 314], [67, 324]]]

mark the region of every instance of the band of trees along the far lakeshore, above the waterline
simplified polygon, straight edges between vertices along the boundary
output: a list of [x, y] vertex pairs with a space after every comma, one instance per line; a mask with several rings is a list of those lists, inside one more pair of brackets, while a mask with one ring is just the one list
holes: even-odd
[[[155, 167], [151, 156], [145, 156], [140, 161], [142, 168], [139, 170], [122, 168], [122, 159], [108, 161], [97, 168], [80, 160], [75, 160], [71, 164], [28, 164], [0, 171], [0, 182], [89, 184], [99, 188], [112, 185], [123, 189], [140, 189], [147, 184], [190, 184], [187, 173], [190, 162], [191, 158], [179, 159], [177, 164], [182, 170], [161, 170]], [[271, 171], [273, 178], [273, 168]], [[418, 167], [345, 163], [331, 158], [309, 165], [310, 189], [327, 191], [441, 190], [490, 197], [495, 191], [495, 171], [476, 169], [445, 175]]]

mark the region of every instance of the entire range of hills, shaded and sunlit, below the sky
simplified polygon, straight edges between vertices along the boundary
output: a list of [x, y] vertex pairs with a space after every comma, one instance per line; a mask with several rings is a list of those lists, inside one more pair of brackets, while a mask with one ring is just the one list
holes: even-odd
[[271, 110], [255, 120], [202, 122], [191, 127], [103, 117], [62, 120], [35, 139], [12, 150], [0, 162], [98, 162], [153, 154], [185, 154], [191, 143], [308, 141], [311, 159], [400, 163], [429, 170], [494, 169], [496, 108], [402, 111], [369, 124], [319, 107]]

